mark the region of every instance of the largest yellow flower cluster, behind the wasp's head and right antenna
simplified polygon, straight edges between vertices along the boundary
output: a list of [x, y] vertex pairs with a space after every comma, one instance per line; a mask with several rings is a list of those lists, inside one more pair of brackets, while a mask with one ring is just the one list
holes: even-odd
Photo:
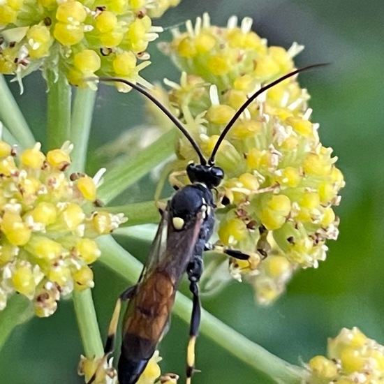
[[[232, 17], [226, 28], [215, 27], [204, 15], [194, 27], [187, 22], [186, 32], [173, 31], [163, 46], [184, 71], [179, 83], [166, 80], [170, 105], [207, 157], [247, 98], [293, 71], [293, 57], [302, 50], [297, 44], [268, 47], [251, 24], [245, 18], [238, 27]], [[319, 140], [318, 124], [309, 120], [308, 99], [295, 77], [269, 89], [237, 119], [216, 155], [226, 173], [219, 187], [219, 202], [226, 205], [218, 210], [219, 239], [256, 253], [231, 269], [237, 279], [253, 272], [247, 279], [265, 304], [283, 292], [295, 269], [325, 260], [326, 239], [338, 235], [332, 205], [339, 204], [344, 178], [332, 149]], [[198, 160], [185, 138], [178, 140], [177, 156], [178, 169]]]

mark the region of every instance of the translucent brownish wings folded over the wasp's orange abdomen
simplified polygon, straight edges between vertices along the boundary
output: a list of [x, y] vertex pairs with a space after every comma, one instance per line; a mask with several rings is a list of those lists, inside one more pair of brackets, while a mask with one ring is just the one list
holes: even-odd
[[163, 212], [138, 288], [126, 312], [122, 355], [149, 360], [167, 327], [175, 294], [186, 271], [204, 221], [202, 210], [177, 230], [169, 205]]

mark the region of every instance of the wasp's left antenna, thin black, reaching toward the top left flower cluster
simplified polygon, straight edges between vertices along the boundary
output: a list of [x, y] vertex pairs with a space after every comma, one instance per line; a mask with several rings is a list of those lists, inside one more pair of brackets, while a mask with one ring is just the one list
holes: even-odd
[[126, 84], [129, 87], [132, 87], [136, 91], [140, 92], [140, 94], [142, 94], [145, 97], [149, 98], [149, 100], [152, 101], [152, 103], [154, 103], [155, 105], [157, 105], [157, 107], [161, 111], [163, 111], [163, 113], [166, 116], [168, 116], [170, 121], [172, 121], [172, 123], [175, 124], [175, 126], [177, 126], [177, 128], [179, 128], [179, 130], [182, 131], [182, 133], [184, 133], [184, 136], [189, 140], [189, 142], [191, 143], [193, 149], [195, 149], [196, 153], [198, 154], [198, 157], [200, 159], [200, 163], [202, 165], [206, 165], [207, 164], [207, 160], [202, 155], [202, 152], [200, 150], [200, 147], [198, 146], [198, 143], [195, 142], [195, 140], [193, 140], [193, 138], [190, 135], [190, 133], [186, 130], [186, 128], [182, 124], [182, 121], [177, 119], [177, 117], [175, 117], [175, 115], [172, 115], [172, 113], [167, 108], [165, 108], [165, 105], [163, 105], [152, 94], [150, 94], [149, 91], [147, 91], [147, 89], [144, 89], [143, 87], [140, 87], [140, 85], [135, 84], [134, 82], [131, 82], [131, 81], [126, 80], [126, 79], [121, 79], [119, 77], [98, 77], [98, 80], [102, 81], [102, 82], [122, 82], [123, 84]]

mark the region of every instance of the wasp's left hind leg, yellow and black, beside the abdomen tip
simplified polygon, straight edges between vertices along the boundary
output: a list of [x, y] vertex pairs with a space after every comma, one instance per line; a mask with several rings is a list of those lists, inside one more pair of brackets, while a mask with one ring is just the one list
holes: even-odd
[[131, 297], [133, 297], [133, 295], [135, 294], [136, 288], [137, 286], [129, 287], [128, 289], [124, 290], [124, 292], [121, 293], [121, 295], [117, 299], [115, 310], [113, 311], [112, 318], [110, 320], [110, 326], [108, 327], [108, 337], [107, 337], [107, 341], [105, 341], [104, 355], [103, 357], [101, 357], [101, 360], [98, 363], [95, 373], [92, 375], [89, 381], [87, 381], [87, 384], [94, 383], [96, 376], [98, 374], [98, 371], [100, 371], [101, 367], [103, 367], [104, 363], [107, 361], [108, 356], [115, 349], [116, 330], [117, 330], [117, 324], [119, 323], [121, 302], [125, 302], [126, 300], [131, 299]]

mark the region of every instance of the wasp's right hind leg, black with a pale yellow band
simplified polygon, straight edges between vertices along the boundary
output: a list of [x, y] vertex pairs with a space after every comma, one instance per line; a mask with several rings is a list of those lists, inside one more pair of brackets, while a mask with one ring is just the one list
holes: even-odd
[[198, 281], [202, 275], [202, 259], [196, 256], [195, 260], [189, 263], [186, 270], [190, 281], [189, 290], [193, 295], [191, 324], [189, 325], [189, 342], [186, 350], [186, 384], [191, 384], [191, 377], [195, 368], [195, 343], [198, 337], [201, 319], [201, 304], [199, 297]]

